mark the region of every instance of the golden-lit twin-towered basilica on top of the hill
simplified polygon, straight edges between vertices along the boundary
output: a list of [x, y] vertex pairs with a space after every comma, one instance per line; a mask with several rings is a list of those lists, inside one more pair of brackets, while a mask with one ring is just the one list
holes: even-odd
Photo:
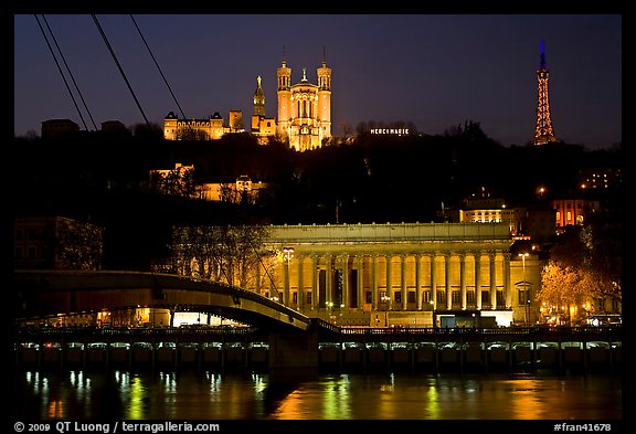
[[331, 137], [331, 68], [325, 56], [317, 70], [318, 84], [307, 80], [303, 70], [299, 83], [292, 84], [292, 68], [285, 56], [277, 68], [278, 77], [278, 121], [277, 131], [289, 140], [289, 147], [299, 151], [322, 146], [322, 140]]

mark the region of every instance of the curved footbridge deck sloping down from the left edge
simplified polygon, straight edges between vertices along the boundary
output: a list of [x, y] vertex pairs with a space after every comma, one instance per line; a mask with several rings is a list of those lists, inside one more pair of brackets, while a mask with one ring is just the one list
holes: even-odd
[[13, 284], [22, 318], [149, 307], [206, 313], [266, 330], [307, 330], [312, 324], [311, 318], [254, 292], [178, 275], [24, 269], [14, 272]]

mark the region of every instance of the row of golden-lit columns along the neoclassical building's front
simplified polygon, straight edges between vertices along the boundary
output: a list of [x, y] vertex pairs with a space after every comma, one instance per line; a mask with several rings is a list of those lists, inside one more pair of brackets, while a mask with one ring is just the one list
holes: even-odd
[[283, 282], [276, 296], [300, 311], [329, 306], [441, 311], [512, 305], [510, 253], [502, 250], [365, 254], [317, 253], [300, 246], [287, 251], [278, 272]]

